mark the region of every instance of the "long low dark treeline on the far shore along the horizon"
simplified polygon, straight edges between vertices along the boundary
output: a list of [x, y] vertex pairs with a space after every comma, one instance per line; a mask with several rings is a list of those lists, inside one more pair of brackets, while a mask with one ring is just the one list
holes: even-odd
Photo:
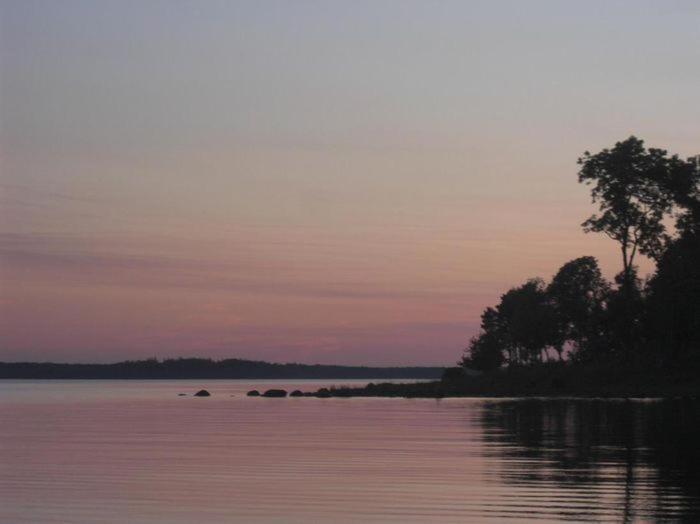
[[324, 366], [255, 360], [177, 358], [114, 364], [0, 362], [0, 379], [393, 379], [439, 378], [439, 367]]

